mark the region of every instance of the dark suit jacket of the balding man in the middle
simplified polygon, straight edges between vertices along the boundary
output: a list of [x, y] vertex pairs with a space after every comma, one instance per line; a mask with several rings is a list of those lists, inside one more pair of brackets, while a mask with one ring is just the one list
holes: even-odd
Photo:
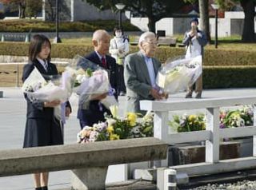
[[[102, 61], [99, 59], [96, 52], [86, 55], [86, 59], [89, 59], [103, 68]], [[110, 72], [110, 85], [117, 92], [118, 78], [115, 59], [106, 55], [106, 65]], [[78, 64], [78, 66], [80, 65]], [[114, 96], [118, 98], [117, 93], [115, 93]], [[102, 107], [102, 110], [100, 107]], [[105, 121], [104, 113], [110, 114], [110, 110], [106, 109], [104, 105], [99, 105], [99, 101], [90, 101], [89, 109], [78, 109], [78, 119], [83, 121], [84, 124], [92, 126], [94, 123], [98, 123], [98, 121]]]

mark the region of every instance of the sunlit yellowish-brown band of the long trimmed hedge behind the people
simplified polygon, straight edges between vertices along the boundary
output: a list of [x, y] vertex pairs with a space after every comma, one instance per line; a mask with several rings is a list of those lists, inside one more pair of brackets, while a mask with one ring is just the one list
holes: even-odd
[[[52, 57], [72, 58], [76, 54], [84, 55], [93, 50], [92, 46], [74, 45], [74, 44], [53, 44]], [[130, 46], [130, 53], [138, 51], [137, 46]], [[1, 42], [1, 55], [26, 56], [28, 52], [28, 43], [22, 42]], [[167, 58], [174, 58], [184, 55], [185, 49], [178, 47], [160, 46], [157, 49], [156, 57], [162, 62]], [[203, 65], [256, 65], [256, 52], [246, 50], [223, 50], [206, 49]]]

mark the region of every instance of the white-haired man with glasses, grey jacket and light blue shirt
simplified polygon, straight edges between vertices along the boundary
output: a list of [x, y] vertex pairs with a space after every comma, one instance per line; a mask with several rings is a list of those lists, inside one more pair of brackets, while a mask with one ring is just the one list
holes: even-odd
[[124, 78], [126, 83], [127, 112], [145, 113], [139, 108], [141, 100], [161, 100], [165, 93], [156, 85], [156, 76], [161, 66], [154, 58], [157, 38], [152, 32], [145, 32], [138, 41], [139, 51], [125, 59]]

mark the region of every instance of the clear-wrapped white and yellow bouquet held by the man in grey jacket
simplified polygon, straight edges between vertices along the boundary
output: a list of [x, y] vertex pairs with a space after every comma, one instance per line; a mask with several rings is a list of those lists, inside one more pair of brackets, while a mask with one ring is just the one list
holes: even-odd
[[166, 93], [178, 93], [184, 91], [202, 73], [202, 56], [194, 58], [168, 59], [158, 71], [157, 85]]

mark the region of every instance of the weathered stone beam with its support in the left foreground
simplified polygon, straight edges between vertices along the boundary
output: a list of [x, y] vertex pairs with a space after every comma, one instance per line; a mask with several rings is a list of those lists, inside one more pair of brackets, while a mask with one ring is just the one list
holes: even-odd
[[[72, 170], [74, 189], [105, 189], [109, 165], [166, 159], [154, 137], [0, 151], [0, 176]], [[95, 180], [96, 179], [96, 180]]]

